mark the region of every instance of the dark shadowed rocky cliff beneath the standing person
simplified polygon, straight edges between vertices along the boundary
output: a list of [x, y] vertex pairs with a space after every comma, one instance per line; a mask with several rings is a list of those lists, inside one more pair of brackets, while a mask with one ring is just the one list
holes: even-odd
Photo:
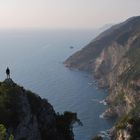
[[75, 113], [56, 114], [46, 99], [12, 79], [0, 83], [0, 124], [7, 128], [7, 137], [12, 134], [15, 140], [73, 140], [75, 121]]

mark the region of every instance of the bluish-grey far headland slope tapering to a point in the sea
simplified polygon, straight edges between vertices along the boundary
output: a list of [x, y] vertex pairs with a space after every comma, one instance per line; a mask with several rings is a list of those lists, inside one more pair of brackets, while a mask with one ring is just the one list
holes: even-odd
[[[97, 61], [98, 57], [101, 56], [103, 51], [106, 52], [107, 48], [110, 48], [110, 50], [114, 53], [116, 53], [115, 49], [117, 49], [117, 55], [120, 58], [123, 55], [123, 52], [127, 49], [126, 43], [128, 42], [129, 38], [139, 32], [139, 26], [140, 17], [131, 18], [121, 24], [112, 26], [110, 29], [100, 34], [82, 50], [70, 56], [65, 61], [65, 65], [67, 67], [74, 67], [80, 70], [94, 71], [96, 64], [99, 61]], [[104, 57], [106, 56], [107, 55]], [[110, 55], [110, 57], [113, 57], [113, 60], [115, 59], [115, 56], [115, 54]], [[116, 61], [118, 61], [118, 58]], [[103, 61], [99, 61], [99, 63], [101, 62], [103, 63]], [[112, 67], [110, 66], [109, 68]]]

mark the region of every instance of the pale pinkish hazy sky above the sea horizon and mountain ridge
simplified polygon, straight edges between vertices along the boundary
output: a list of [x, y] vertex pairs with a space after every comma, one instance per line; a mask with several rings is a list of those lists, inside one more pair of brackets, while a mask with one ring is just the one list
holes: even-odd
[[0, 28], [96, 28], [140, 15], [140, 0], [0, 0]]

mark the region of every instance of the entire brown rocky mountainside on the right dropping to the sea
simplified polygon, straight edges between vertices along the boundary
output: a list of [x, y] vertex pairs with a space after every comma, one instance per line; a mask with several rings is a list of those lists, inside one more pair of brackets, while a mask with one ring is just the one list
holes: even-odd
[[[65, 65], [92, 72], [99, 86], [109, 89], [106, 99], [109, 108], [104, 116], [118, 116], [121, 120], [129, 114], [132, 122], [139, 121], [140, 16], [130, 18], [103, 32], [82, 50], [69, 57]], [[114, 129], [116, 131], [113, 131], [114, 139], [140, 138], [138, 135], [133, 136], [134, 124], [131, 121], [130, 123], [129, 119], [125, 120], [123, 128], [117, 128], [122, 121], [118, 122], [115, 127], [117, 129]], [[132, 125], [129, 131], [128, 125]]]

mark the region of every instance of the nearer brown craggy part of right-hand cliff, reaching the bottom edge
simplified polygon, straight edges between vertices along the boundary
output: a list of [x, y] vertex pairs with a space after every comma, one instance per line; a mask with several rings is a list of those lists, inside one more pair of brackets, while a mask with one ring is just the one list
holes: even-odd
[[[120, 117], [114, 129], [114, 140], [140, 138], [140, 35], [132, 46], [109, 75], [109, 110], [115, 110]], [[110, 113], [106, 111], [105, 115], [107, 112]]]

